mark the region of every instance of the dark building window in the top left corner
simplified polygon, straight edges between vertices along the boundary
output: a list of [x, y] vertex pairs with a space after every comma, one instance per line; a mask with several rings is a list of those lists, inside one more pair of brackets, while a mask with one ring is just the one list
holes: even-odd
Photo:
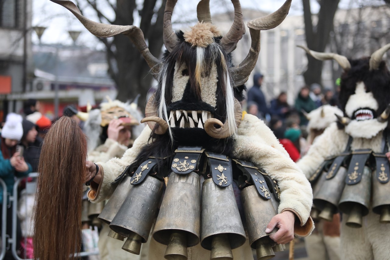
[[0, 0], [0, 27], [23, 28], [24, 2], [22, 0]]

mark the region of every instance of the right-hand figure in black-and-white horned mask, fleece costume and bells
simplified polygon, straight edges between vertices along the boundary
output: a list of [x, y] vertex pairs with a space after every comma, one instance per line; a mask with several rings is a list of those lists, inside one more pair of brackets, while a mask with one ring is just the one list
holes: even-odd
[[[386, 45], [371, 57], [348, 60], [305, 48], [316, 59], [335, 59], [344, 69], [340, 108], [344, 117], [317, 137], [298, 166], [314, 183], [314, 205], [325, 219], [342, 212], [341, 258], [386, 259], [388, 208], [388, 117], [390, 73]], [[317, 188], [318, 187], [318, 188]]]

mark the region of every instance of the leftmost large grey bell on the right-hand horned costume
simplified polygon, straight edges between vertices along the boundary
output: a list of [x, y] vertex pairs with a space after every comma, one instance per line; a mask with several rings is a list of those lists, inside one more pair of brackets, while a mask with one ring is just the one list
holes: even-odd
[[[321, 213], [318, 215], [319, 218], [327, 221], [333, 220], [333, 214], [337, 213], [337, 205], [345, 186], [344, 180], [346, 175], [347, 169], [340, 167], [336, 175], [329, 180], [324, 180], [318, 192], [314, 194], [313, 203], [316, 208], [321, 210]], [[326, 174], [323, 174], [322, 178], [326, 178]]]

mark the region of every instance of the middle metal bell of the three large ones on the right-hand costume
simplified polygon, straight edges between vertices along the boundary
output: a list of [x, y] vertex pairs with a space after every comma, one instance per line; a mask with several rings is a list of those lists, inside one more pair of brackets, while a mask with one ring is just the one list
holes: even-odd
[[364, 166], [362, 179], [354, 185], [346, 185], [340, 198], [339, 209], [347, 214], [346, 225], [353, 228], [362, 226], [363, 216], [369, 213], [371, 196], [371, 169]]

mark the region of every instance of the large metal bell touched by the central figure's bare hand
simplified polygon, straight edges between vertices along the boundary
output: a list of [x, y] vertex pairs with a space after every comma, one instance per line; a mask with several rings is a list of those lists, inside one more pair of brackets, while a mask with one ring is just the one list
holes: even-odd
[[271, 233], [266, 233], [266, 227], [276, 211], [270, 199], [262, 199], [254, 185], [241, 191], [246, 224], [248, 226], [249, 244], [256, 249], [257, 260], [265, 260], [275, 256], [273, 247], [276, 243], [269, 235], [277, 232], [275, 228]]

